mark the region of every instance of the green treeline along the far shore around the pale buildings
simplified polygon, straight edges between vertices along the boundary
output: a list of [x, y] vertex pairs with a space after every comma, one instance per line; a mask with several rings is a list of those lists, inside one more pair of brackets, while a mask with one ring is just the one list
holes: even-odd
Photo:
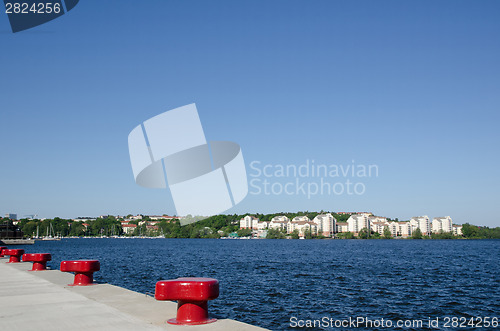
[[[318, 214], [325, 213], [321, 212], [296, 212], [296, 213], [275, 213], [275, 214], [243, 214], [243, 215], [215, 215], [206, 218], [202, 221], [196, 223], [191, 223], [188, 225], [181, 226], [179, 220], [162, 220], [155, 226], [148, 225], [151, 220], [149, 217], [144, 216], [141, 220], [130, 221], [130, 224], [136, 224], [137, 227], [133, 232], [129, 233], [129, 236], [164, 236], [166, 238], [220, 238], [228, 236], [238, 236], [246, 237], [251, 235], [251, 230], [240, 229], [240, 219], [246, 215], [253, 215], [259, 218], [260, 221], [271, 221], [275, 216], [284, 215], [289, 219], [293, 219], [296, 216], [307, 216], [309, 219], [313, 219]], [[346, 214], [336, 214], [331, 213], [337, 222], [346, 222], [350, 215]], [[38, 235], [40, 237], [51, 235], [56, 237], [83, 237], [83, 236], [123, 236], [125, 235], [121, 221], [123, 219], [116, 218], [114, 216], [99, 217], [95, 220], [85, 220], [85, 221], [74, 221], [71, 219], [22, 219], [18, 223], [20, 230], [24, 232], [26, 237], [34, 237]], [[144, 222], [144, 224], [139, 225], [139, 223]], [[8, 218], [0, 218], [0, 224], [5, 224], [6, 222], [12, 222]], [[84, 224], [87, 224], [85, 226]], [[364, 232], [363, 232], [364, 230]], [[418, 229], [417, 229], [418, 230]], [[471, 225], [469, 223], [463, 224], [462, 226], [462, 236], [453, 236], [451, 233], [434, 233], [430, 236], [431, 239], [456, 239], [456, 238], [467, 238], [467, 239], [500, 239], [500, 227], [489, 228], [480, 227], [476, 225]], [[283, 238], [298, 238], [298, 232], [287, 234], [283, 230], [269, 229], [267, 233], [268, 239], [283, 239]], [[352, 233], [338, 233], [338, 238], [343, 239], [354, 239], [356, 238]], [[306, 239], [323, 238], [322, 236], [316, 236], [310, 232], [305, 233]], [[390, 231], [384, 231], [384, 233], [376, 233], [371, 231], [368, 233], [365, 229], [360, 232], [359, 238], [364, 239], [389, 239]], [[423, 236], [420, 231], [415, 231], [412, 235], [413, 239], [428, 239], [429, 237]]]

